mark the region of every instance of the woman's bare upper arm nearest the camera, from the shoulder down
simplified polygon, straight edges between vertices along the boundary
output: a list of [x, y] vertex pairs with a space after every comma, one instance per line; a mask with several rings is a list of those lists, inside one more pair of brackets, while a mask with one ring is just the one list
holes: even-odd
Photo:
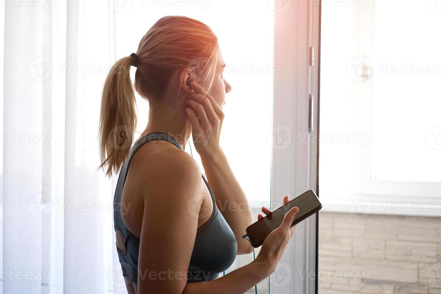
[[187, 284], [202, 175], [193, 159], [173, 157], [160, 159], [155, 182], [144, 196], [138, 293], [180, 294]]

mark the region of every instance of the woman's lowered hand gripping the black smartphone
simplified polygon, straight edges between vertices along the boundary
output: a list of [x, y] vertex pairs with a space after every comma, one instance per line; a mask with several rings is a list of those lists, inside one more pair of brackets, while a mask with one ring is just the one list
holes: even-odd
[[285, 247], [294, 233], [295, 226], [291, 227], [291, 225], [297, 212], [299, 212], [298, 207], [291, 208], [286, 213], [280, 227], [272, 231], [262, 244], [256, 261], [259, 260], [267, 265], [267, 275], [271, 275], [275, 271]]

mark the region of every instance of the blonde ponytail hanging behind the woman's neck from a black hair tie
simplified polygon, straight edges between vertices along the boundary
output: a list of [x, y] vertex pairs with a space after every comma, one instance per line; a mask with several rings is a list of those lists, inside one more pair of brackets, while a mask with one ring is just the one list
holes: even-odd
[[99, 128], [100, 168], [109, 177], [123, 165], [136, 129], [136, 100], [130, 79], [132, 63], [131, 56], [118, 60], [104, 83]]

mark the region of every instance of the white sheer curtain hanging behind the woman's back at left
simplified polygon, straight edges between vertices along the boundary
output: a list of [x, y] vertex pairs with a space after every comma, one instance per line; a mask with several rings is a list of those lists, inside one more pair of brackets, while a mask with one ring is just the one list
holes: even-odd
[[2, 2], [0, 289], [123, 293], [115, 181], [97, 170], [114, 15], [106, 0]]

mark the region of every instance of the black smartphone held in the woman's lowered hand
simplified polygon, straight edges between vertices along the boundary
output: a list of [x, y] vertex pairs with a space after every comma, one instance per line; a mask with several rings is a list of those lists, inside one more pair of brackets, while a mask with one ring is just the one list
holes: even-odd
[[299, 212], [295, 216], [291, 227], [318, 212], [321, 209], [321, 203], [313, 190], [308, 190], [295, 197], [287, 204], [247, 227], [246, 231], [251, 245], [254, 248], [261, 246], [269, 233], [280, 227], [286, 213], [293, 207], [298, 207]]

